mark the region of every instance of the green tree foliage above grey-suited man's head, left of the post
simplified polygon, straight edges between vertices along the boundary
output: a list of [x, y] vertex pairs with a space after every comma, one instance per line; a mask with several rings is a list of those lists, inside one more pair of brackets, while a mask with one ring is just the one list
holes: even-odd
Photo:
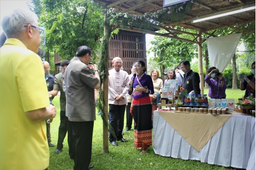
[[40, 22], [47, 29], [46, 46], [61, 59], [72, 59], [81, 45], [93, 48], [92, 62], [99, 56], [103, 36], [101, 5], [93, 1], [42, 1]]

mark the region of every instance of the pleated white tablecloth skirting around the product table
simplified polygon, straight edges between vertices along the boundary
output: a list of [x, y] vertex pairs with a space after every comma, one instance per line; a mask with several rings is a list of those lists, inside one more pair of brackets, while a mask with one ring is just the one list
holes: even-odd
[[157, 111], [154, 111], [153, 128], [153, 147], [158, 155], [255, 169], [255, 117], [232, 115], [200, 152], [191, 147]]

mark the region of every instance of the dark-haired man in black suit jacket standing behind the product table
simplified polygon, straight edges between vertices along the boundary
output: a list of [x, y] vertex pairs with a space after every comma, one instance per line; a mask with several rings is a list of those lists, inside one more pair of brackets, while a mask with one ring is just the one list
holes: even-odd
[[[185, 73], [183, 76], [183, 81], [181, 87], [187, 90], [187, 93], [190, 93], [194, 90], [195, 96], [201, 93], [200, 89], [200, 77], [197, 72], [194, 72], [190, 68], [190, 63], [187, 60], [180, 62], [180, 69]], [[185, 96], [181, 96], [181, 100], [184, 103]]]

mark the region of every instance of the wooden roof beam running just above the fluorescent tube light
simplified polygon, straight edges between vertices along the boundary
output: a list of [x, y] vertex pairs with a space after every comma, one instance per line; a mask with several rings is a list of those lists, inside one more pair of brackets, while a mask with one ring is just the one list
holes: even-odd
[[[243, 5], [243, 8], [247, 8], [247, 7], [251, 7], [251, 6], [255, 6], [255, 3], [245, 4], [245, 5]], [[224, 10], [220, 10], [220, 11], [216, 11], [216, 12], [211, 12], [211, 13], [196, 16], [196, 17], [193, 17], [193, 18], [187, 18], [187, 19], [184, 19], [183, 21], [181, 21], [180, 23], [191, 22], [192, 20], [196, 20], [196, 19], [205, 18], [205, 17], [208, 17], [208, 16], [213, 16], [213, 15], [217, 15], [217, 14], [222, 14], [222, 13], [238, 10], [238, 9], [241, 9], [241, 7], [242, 7], [242, 5], [241, 6], [239, 5], [237, 7], [228, 8], [228, 9], [224, 9]], [[204, 22], [204, 21], [202, 21], [202, 22]], [[179, 21], [176, 21], [176, 22], [172, 22], [171, 24], [176, 26], [176, 25], [178, 25], [178, 23], [179, 23]], [[166, 26], [167, 24], [169, 24], [169, 23], [165, 23], [163, 26]]]

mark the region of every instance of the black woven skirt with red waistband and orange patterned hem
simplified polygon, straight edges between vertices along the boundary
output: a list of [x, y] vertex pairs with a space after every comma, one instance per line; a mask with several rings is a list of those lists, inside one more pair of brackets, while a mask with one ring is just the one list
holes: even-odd
[[133, 100], [134, 146], [148, 148], [152, 145], [152, 104], [150, 96]]

